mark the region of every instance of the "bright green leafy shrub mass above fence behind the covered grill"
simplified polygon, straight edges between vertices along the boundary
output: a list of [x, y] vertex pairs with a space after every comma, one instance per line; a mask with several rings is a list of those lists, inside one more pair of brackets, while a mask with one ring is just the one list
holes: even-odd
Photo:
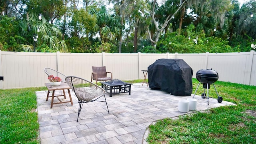
[[188, 26], [182, 35], [176, 32], [167, 33], [160, 38], [157, 49], [161, 53], [221, 53], [221, 52], [240, 52], [239, 48], [231, 48], [228, 41], [218, 37], [206, 37], [201, 32], [194, 32], [194, 25]]

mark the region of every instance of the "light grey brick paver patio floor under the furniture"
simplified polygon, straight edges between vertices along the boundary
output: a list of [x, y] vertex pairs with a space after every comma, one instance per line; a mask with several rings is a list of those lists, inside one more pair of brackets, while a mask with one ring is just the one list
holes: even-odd
[[[50, 108], [50, 100], [46, 102], [47, 91], [36, 92], [41, 144], [146, 144], [147, 127], [152, 122], [195, 112], [178, 111], [178, 100], [192, 98], [194, 94], [173, 96], [138, 83], [132, 85], [131, 95], [123, 93], [109, 97], [105, 94], [110, 114], [106, 103], [90, 102], [84, 104], [76, 122], [78, 102], [74, 93], [71, 94], [73, 106], [64, 103]], [[195, 98], [198, 111], [233, 104], [218, 103], [210, 98], [208, 106], [207, 98], [198, 95]]]

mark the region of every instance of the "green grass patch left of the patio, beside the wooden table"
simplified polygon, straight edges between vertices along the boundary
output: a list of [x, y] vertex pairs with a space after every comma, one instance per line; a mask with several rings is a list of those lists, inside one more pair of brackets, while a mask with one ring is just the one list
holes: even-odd
[[0, 144], [40, 144], [36, 91], [41, 88], [0, 90]]

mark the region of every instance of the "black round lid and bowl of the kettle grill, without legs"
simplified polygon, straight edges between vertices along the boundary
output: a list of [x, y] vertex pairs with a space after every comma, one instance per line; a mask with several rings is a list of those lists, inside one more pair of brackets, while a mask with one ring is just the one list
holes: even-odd
[[204, 84], [213, 84], [219, 78], [218, 72], [212, 69], [198, 70], [196, 72], [196, 79]]

